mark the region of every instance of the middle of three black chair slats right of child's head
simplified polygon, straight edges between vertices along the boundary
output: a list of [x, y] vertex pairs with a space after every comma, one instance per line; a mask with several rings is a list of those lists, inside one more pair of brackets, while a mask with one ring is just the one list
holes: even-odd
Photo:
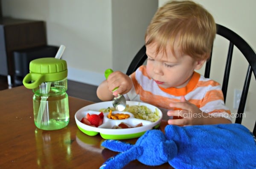
[[234, 49], [234, 44], [232, 42], [230, 42], [229, 47], [228, 47], [227, 61], [226, 61], [225, 72], [224, 72], [223, 83], [222, 83], [222, 92], [224, 95], [224, 102], [226, 102], [226, 97], [227, 97], [227, 86], [228, 86], [228, 80], [229, 80], [229, 75], [230, 75], [230, 67], [231, 67], [231, 61], [232, 61], [232, 56], [233, 56], [233, 49]]

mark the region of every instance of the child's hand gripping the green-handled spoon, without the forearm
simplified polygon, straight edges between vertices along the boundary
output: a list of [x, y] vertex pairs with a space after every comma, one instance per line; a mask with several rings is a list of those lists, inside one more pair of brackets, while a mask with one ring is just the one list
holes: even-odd
[[125, 94], [131, 90], [132, 80], [131, 78], [119, 71], [113, 72], [108, 76], [108, 89], [112, 92], [113, 89], [119, 87], [113, 95]]

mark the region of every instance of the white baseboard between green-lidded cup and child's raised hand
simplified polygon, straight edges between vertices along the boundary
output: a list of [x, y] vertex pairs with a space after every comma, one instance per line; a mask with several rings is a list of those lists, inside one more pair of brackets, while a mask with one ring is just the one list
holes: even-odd
[[68, 80], [99, 86], [105, 80], [104, 74], [68, 67]]

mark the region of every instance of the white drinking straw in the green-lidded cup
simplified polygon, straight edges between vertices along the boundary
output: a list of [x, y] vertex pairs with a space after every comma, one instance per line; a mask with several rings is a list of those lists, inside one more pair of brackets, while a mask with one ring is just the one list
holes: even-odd
[[[56, 53], [55, 55], [55, 58], [56, 59], [61, 59], [61, 56], [65, 50], [65, 46], [64, 45], [61, 45], [58, 49], [58, 52]], [[51, 89], [51, 82], [48, 82], [45, 86], [44, 86], [44, 90], [42, 90], [41, 92], [43, 94], [47, 94], [50, 92], [50, 89]], [[41, 90], [41, 89], [40, 89]], [[37, 117], [37, 125], [38, 125], [38, 128], [40, 128], [41, 126], [41, 123], [42, 123], [42, 118], [43, 118], [43, 115], [44, 115], [44, 111], [45, 111], [45, 108], [46, 108], [46, 104], [47, 104], [47, 98], [48, 96], [42, 96], [41, 98], [41, 103], [40, 103], [40, 106], [39, 106], [39, 109], [38, 109], [38, 117]]]

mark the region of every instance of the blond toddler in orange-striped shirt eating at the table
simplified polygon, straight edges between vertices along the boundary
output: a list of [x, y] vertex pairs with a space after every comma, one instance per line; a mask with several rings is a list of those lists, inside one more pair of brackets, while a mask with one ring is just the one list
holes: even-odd
[[215, 34], [214, 18], [201, 5], [166, 3], [145, 33], [146, 66], [130, 76], [113, 72], [99, 85], [97, 96], [107, 101], [122, 94], [152, 104], [173, 117], [168, 120], [173, 125], [231, 123], [220, 84], [195, 72], [209, 58]]

